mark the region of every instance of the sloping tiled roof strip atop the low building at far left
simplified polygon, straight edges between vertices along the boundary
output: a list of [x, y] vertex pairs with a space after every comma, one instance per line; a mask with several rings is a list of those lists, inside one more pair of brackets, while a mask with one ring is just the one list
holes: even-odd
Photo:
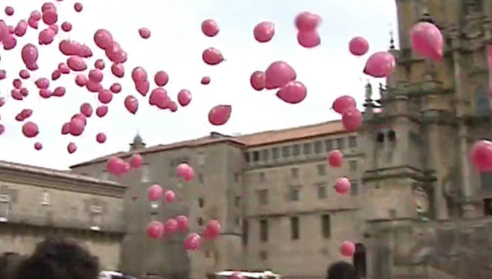
[[54, 169], [48, 169], [48, 168], [43, 168], [43, 167], [37, 167], [37, 166], [31, 166], [31, 165], [25, 165], [25, 164], [19, 164], [19, 163], [7, 162], [7, 161], [1, 161], [0, 160], [0, 169], [1, 168], [8, 169], [8, 170], [15, 170], [15, 171], [19, 171], [19, 172], [28, 172], [28, 173], [34, 173], [34, 174], [39, 174], [39, 175], [51, 176], [51, 177], [56, 177], [56, 178], [64, 178], [64, 179], [81, 181], [81, 182], [104, 184], [106, 186], [124, 187], [123, 185], [121, 185], [117, 182], [114, 182], [114, 181], [101, 180], [101, 179], [93, 178], [93, 177], [90, 177], [87, 175], [76, 174], [76, 173], [73, 173], [71, 171], [54, 170]]

